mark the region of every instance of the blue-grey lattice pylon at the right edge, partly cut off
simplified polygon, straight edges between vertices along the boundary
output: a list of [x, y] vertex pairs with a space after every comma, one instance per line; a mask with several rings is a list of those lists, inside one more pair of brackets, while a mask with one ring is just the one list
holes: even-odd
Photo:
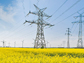
[[82, 14], [78, 13], [79, 16], [75, 16], [75, 18], [80, 17], [79, 21], [76, 22], [72, 22], [72, 23], [78, 23], [79, 24], [79, 33], [78, 33], [78, 43], [77, 43], [77, 47], [83, 47], [83, 40], [82, 40], [82, 23], [84, 21], [82, 21], [82, 17], [84, 17]]

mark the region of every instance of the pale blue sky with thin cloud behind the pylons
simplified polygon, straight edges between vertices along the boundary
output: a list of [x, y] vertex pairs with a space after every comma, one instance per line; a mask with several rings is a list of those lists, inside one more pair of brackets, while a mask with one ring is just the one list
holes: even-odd
[[[65, 4], [62, 5], [64, 2]], [[6, 41], [6, 45], [10, 42], [12, 47], [16, 42], [16, 47], [21, 47], [24, 40], [24, 47], [33, 47], [37, 26], [29, 25], [29, 23], [23, 25], [25, 20], [37, 20], [38, 18], [32, 14], [25, 17], [29, 11], [36, 12], [33, 4], [39, 8], [47, 7], [44, 12], [48, 15], [53, 14], [49, 19], [44, 18], [48, 23], [55, 24], [51, 28], [44, 28], [45, 40], [49, 42], [48, 46], [65, 45], [66, 47], [67, 28], [71, 29], [72, 34], [70, 46], [77, 45], [79, 26], [78, 24], [73, 25], [72, 22], [79, 21], [79, 18], [75, 19], [74, 16], [78, 16], [77, 11], [84, 8], [84, 0], [0, 0], [0, 41]], [[79, 13], [82, 12], [84, 9], [79, 11]], [[82, 33], [84, 41], [84, 27]], [[0, 46], [2, 46], [1, 42]]]

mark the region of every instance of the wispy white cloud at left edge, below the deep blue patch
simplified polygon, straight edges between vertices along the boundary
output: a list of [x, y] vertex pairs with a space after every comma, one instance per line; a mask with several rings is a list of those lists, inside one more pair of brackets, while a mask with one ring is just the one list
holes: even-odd
[[[16, 14], [16, 12], [12, 12], [12, 7], [7, 7], [7, 9], [9, 9], [8, 11], [4, 11], [3, 7], [0, 6], [0, 19], [2, 21], [8, 22], [8, 23], [12, 23], [14, 22], [14, 15]], [[6, 9], [6, 10], [7, 10]]]

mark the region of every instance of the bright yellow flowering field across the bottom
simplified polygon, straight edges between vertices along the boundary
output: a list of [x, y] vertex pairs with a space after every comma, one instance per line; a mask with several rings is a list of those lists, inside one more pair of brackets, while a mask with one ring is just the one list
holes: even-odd
[[84, 63], [84, 50], [0, 48], [0, 63]]

